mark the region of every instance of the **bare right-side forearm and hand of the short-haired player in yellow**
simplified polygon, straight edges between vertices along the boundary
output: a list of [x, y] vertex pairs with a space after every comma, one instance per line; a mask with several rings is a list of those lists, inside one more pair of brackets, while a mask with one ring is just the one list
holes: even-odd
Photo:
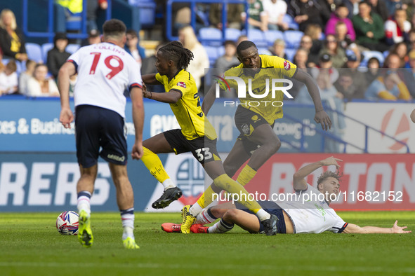
[[327, 115], [326, 111], [324, 111], [322, 99], [320, 97], [320, 90], [317, 86], [317, 83], [315, 83], [315, 80], [310, 76], [310, 74], [303, 70], [297, 70], [297, 73], [294, 76], [294, 78], [297, 81], [301, 81], [302, 83], [304, 83], [307, 87], [308, 93], [310, 94], [312, 102], [314, 102], [315, 106], [315, 123], [320, 123], [320, 125], [322, 125], [323, 130], [331, 128], [331, 120], [329, 115]]

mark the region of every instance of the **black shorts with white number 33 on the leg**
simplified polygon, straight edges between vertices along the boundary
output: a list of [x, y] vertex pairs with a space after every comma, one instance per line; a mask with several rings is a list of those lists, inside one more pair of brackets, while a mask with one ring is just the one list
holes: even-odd
[[163, 134], [176, 154], [190, 151], [202, 165], [211, 161], [220, 160], [219, 153], [216, 149], [216, 139], [211, 140], [207, 137], [199, 137], [193, 140], [187, 140], [180, 129], [169, 130], [163, 132]]

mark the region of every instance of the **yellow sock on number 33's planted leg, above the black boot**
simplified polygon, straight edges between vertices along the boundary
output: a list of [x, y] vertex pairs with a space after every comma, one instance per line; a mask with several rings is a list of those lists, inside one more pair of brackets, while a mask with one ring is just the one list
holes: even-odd
[[222, 174], [219, 177], [216, 177], [216, 179], [213, 179], [213, 183], [219, 188], [223, 188], [223, 190], [227, 191], [228, 193], [236, 194], [236, 198], [238, 199], [237, 201], [244, 205], [244, 207], [248, 208], [254, 214], [262, 209], [261, 205], [259, 205], [258, 202], [255, 200], [249, 200], [250, 196], [245, 188], [241, 184], [237, 183], [237, 181], [228, 177], [228, 174]]

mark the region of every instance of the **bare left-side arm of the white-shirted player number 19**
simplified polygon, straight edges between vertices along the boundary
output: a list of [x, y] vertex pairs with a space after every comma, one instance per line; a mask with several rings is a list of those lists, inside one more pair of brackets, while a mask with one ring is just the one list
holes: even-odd
[[74, 120], [74, 114], [70, 108], [69, 88], [70, 76], [77, 73], [77, 69], [72, 62], [65, 62], [58, 73], [58, 90], [60, 94], [60, 116], [59, 120], [63, 127], [70, 128]]

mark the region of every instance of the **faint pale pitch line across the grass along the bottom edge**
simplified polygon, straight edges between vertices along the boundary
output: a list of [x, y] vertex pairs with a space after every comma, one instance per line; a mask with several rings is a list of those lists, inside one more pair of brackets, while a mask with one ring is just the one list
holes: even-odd
[[[181, 264], [166, 264], [166, 263], [55, 263], [55, 262], [0, 262], [0, 267], [62, 267], [62, 265], [69, 267], [83, 267], [83, 268], [170, 268], [170, 269], [182, 269]], [[343, 267], [343, 266], [312, 266], [312, 265], [199, 265], [190, 264], [185, 265], [187, 268], [194, 269], [206, 269], [206, 270], [284, 270], [284, 271], [331, 271], [331, 272], [390, 272], [396, 273], [415, 273], [415, 267], [408, 268], [381, 268], [381, 267], [369, 267], [369, 266], [355, 266], [355, 267]]]

